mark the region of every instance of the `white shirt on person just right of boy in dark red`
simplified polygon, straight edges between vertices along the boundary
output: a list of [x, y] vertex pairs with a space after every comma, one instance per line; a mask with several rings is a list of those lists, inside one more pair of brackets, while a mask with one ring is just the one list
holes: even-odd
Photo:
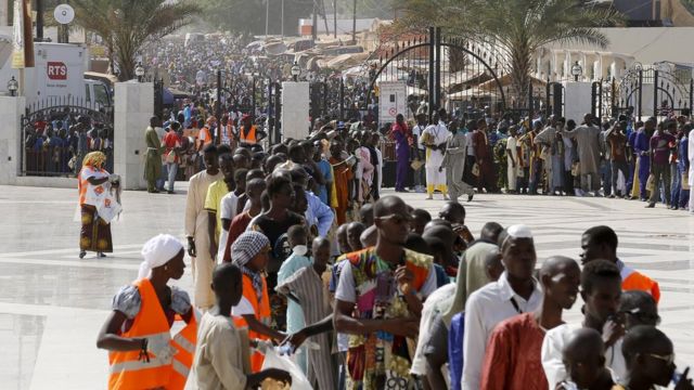
[[[562, 351], [570, 340], [574, 332], [580, 327], [579, 324], [564, 324], [550, 329], [544, 335], [544, 341], [542, 341], [542, 368], [544, 368], [550, 390], [554, 390], [556, 384], [562, 380], [568, 379], [568, 374], [566, 374], [566, 367], [562, 360]], [[626, 379], [627, 375], [627, 363], [621, 354], [621, 342], [622, 339], [619, 339], [614, 346], [605, 350], [605, 366], [611, 369], [615, 382]]]

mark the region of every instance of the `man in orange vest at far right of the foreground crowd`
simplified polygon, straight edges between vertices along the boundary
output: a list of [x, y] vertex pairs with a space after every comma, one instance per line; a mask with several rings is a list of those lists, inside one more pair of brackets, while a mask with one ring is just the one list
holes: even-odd
[[586, 264], [599, 259], [614, 262], [621, 274], [622, 290], [646, 291], [657, 303], [660, 300], [658, 283], [619, 260], [617, 244], [617, 234], [609, 226], [593, 226], [587, 230], [581, 237], [581, 262]]

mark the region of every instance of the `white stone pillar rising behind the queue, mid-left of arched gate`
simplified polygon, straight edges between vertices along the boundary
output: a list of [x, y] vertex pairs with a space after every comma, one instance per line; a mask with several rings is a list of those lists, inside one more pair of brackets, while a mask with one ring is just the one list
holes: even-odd
[[282, 139], [305, 139], [309, 134], [309, 83], [282, 82]]

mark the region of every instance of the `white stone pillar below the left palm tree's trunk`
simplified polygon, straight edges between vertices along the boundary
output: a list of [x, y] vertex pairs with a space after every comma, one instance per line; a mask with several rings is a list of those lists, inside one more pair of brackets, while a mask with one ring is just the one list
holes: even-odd
[[117, 82], [114, 123], [114, 173], [125, 190], [146, 190], [144, 130], [154, 113], [152, 82]]

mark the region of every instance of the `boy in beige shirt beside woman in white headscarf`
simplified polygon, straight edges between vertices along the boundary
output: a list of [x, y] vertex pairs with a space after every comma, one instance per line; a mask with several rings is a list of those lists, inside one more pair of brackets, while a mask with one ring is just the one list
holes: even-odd
[[242, 277], [241, 269], [231, 263], [217, 266], [213, 274], [217, 304], [203, 314], [195, 353], [195, 374], [201, 390], [255, 389], [267, 378], [292, 384], [290, 373], [278, 368], [250, 374], [250, 362], [245, 352], [256, 340], [248, 340], [243, 318], [231, 316], [231, 308], [243, 297]]

